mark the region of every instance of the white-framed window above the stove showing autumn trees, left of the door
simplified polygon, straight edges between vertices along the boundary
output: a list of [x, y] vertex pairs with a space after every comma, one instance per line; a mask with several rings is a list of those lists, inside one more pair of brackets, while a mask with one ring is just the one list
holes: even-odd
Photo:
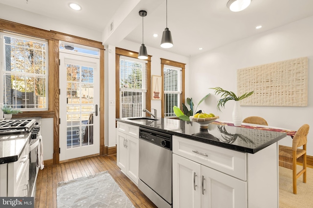
[[1, 45], [0, 103], [25, 110], [47, 110], [47, 42], [1, 33]]

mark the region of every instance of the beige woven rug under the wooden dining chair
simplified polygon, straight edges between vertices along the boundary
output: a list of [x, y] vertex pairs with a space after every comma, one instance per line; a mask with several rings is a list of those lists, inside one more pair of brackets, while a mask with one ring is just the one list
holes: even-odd
[[297, 179], [297, 194], [293, 194], [292, 170], [279, 167], [279, 207], [313, 208], [313, 168], [307, 168], [307, 183], [302, 183], [302, 175]]

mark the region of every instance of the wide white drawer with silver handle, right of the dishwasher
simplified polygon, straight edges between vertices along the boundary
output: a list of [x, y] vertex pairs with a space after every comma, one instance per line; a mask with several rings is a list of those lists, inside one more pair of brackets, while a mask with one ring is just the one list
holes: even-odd
[[173, 136], [173, 153], [246, 181], [246, 153]]

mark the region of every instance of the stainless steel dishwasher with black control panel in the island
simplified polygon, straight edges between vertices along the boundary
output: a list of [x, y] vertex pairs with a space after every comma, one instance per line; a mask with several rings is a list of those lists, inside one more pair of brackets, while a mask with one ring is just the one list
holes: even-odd
[[172, 135], [139, 127], [139, 189], [158, 207], [172, 207]]

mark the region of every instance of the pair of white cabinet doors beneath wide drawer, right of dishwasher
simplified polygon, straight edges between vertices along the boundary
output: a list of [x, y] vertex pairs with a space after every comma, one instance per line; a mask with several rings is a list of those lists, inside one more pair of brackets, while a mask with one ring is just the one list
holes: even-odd
[[246, 182], [173, 154], [174, 208], [245, 208]]

